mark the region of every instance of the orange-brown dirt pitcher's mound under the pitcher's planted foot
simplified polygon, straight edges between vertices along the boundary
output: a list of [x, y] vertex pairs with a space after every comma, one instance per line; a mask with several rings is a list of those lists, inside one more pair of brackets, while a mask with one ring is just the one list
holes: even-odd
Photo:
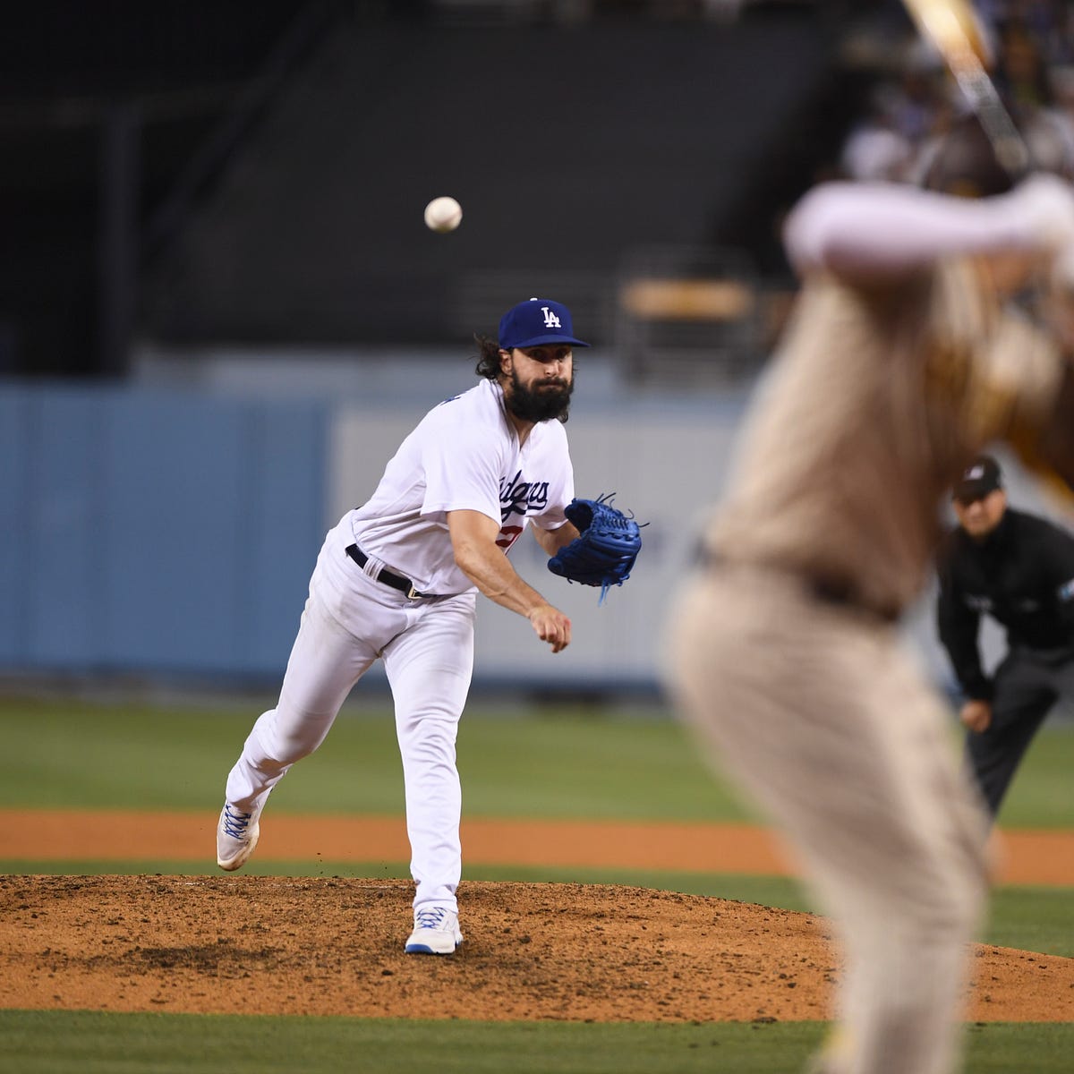
[[[0, 1006], [577, 1021], [830, 1016], [823, 918], [587, 884], [464, 883], [403, 954], [409, 882], [0, 877]], [[1074, 1020], [1074, 959], [976, 949], [975, 1020]]]

